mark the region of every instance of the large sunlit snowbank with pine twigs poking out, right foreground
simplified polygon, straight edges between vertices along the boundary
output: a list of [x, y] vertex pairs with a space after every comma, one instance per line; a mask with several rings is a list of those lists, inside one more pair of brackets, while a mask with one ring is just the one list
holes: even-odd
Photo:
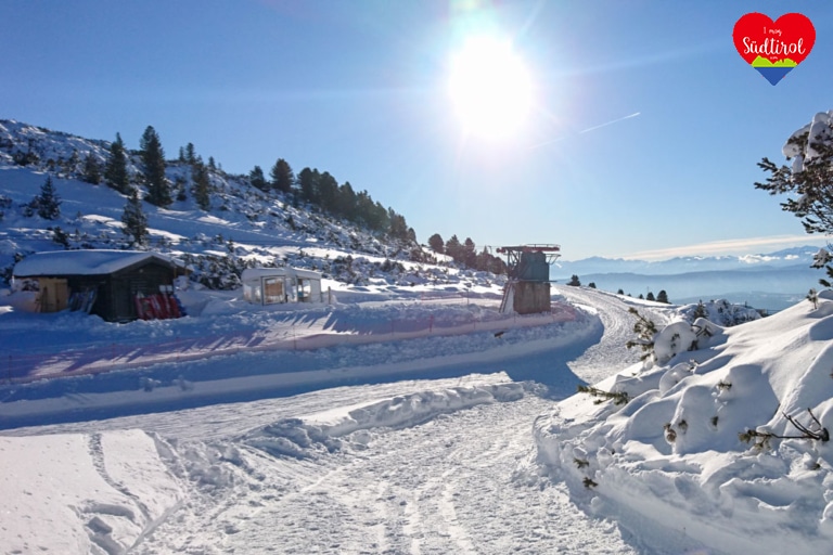
[[817, 309], [800, 302], [731, 328], [699, 320], [710, 325], [699, 350], [635, 365], [539, 418], [539, 463], [564, 476], [579, 504], [625, 527], [646, 518], [718, 553], [824, 552], [833, 302], [820, 297]]

